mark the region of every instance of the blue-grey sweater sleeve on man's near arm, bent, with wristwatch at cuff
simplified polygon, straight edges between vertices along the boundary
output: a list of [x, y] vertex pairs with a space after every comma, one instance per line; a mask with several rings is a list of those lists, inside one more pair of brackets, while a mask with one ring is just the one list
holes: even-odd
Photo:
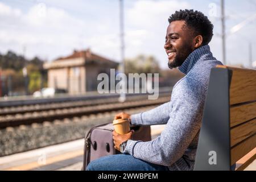
[[128, 140], [124, 153], [163, 166], [180, 159], [201, 125], [205, 93], [195, 82], [184, 80], [177, 86], [172, 94], [170, 118], [160, 136], [149, 142]]

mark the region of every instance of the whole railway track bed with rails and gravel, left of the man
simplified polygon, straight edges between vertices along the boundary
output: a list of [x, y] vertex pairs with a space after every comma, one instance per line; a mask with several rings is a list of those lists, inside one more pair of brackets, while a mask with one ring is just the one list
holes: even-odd
[[118, 97], [0, 101], [0, 156], [84, 138], [91, 127], [112, 122], [120, 111], [135, 114], [170, 101], [171, 89], [160, 91], [157, 100], [148, 100], [148, 94], [127, 94], [119, 103]]

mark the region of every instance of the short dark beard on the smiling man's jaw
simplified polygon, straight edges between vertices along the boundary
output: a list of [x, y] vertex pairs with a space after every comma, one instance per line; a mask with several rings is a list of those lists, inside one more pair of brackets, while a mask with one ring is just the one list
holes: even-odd
[[187, 59], [188, 55], [193, 52], [191, 45], [184, 45], [180, 48], [181, 51], [176, 51], [176, 56], [173, 61], [168, 61], [168, 67], [170, 69], [180, 67]]

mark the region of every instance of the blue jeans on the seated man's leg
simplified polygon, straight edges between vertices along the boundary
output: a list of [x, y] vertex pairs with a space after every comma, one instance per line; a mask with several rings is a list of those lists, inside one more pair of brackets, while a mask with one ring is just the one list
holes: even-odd
[[93, 160], [86, 168], [87, 171], [168, 171], [168, 167], [135, 159], [131, 155], [108, 155]]

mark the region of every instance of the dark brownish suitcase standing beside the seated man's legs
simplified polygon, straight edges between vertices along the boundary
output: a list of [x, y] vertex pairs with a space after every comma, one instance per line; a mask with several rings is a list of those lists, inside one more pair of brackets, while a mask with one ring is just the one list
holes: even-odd
[[[112, 131], [114, 126], [112, 123], [106, 123], [93, 127], [85, 135], [84, 146], [84, 163], [82, 170], [86, 170], [88, 164], [95, 159], [106, 155], [121, 154], [115, 150], [113, 143]], [[142, 140], [147, 142], [151, 140], [150, 126], [131, 127], [134, 130], [133, 140]]]

